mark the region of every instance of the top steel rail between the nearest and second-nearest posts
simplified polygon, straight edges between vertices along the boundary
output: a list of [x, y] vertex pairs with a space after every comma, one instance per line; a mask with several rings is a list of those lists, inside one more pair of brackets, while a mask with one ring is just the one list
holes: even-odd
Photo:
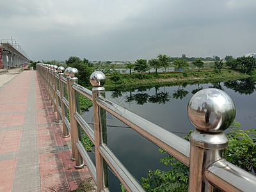
[[96, 102], [101, 108], [139, 132], [142, 136], [168, 152], [168, 154], [171, 154], [173, 157], [189, 166], [189, 141], [180, 138], [172, 132], [166, 131], [162, 127], [118, 106], [104, 97], [97, 97]]

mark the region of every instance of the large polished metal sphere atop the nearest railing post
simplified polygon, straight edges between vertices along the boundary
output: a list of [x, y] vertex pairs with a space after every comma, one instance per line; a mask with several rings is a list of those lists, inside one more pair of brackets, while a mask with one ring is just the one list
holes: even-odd
[[207, 88], [195, 93], [189, 100], [188, 116], [196, 129], [221, 132], [234, 121], [236, 107], [227, 93]]

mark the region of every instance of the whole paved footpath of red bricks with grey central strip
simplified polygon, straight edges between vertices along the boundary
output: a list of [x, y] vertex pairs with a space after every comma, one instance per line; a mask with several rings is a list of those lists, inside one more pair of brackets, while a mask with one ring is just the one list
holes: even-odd
[[36, 71], [0, 88], [0, 191], [72, 191], [90, 178], [70, 159], [56, 113]]

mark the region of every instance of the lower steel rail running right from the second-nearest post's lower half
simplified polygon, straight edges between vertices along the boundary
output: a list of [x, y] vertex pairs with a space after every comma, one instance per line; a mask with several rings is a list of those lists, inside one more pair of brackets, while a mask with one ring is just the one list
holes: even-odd
[[99, 151], [102, 157], [110, 166], [111, 170], [115, 173], [118, 179], [124, 184], [126, 189], [129, 191], [145, 191], [140, 185], [140, 183], [134, 179], [132, 174], [125, 168], [124, 164], [122, 164], [115, 154], [109, 150], [106, 144], [102, 144], [99, 146]]

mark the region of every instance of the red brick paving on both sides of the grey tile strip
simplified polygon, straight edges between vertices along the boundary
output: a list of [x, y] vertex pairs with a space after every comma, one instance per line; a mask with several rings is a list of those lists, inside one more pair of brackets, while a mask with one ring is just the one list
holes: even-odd
[[[29, 102], [29, 85], [33, 73], [40, 191], [74, 190], [91, 175], [87, 168], [74, 168], [75, 162], [70, 159], [70, 138], [62, 137], [62, 126], [56, 125], [56, 113], [53, 113], [45, 88], [35, 71], [22, 72], [0, 90], [0, 155], [19, 152], [22, 126], [28, 113], [26, 106]], [[8, 130], [9, 127], [15, 130]], [[6, 160], [0, 156], [0, 191], [12, 191], [17, 157], [12, 158], [15, 159]]]

